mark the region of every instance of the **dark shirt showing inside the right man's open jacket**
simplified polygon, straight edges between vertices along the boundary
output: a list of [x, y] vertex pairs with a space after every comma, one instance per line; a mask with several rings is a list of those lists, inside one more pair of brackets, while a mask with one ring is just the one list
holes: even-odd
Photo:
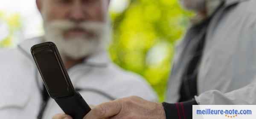
[[186, 70], [183, 72], [183, 75], [182, 75], [183, 81], [180, 87], [179, 102], [191, 100], [198, 93], [197, 92], [197, 75], [198, 75], [199, 63], [201, 61], [201, 56], [203, 54], [205, 35], [206, 35], [206, 29], [208, 24], [209, 24], [209, 20], [206, 20], [204, 23], [189, 29], [190, 34], [192, 35], [190, 35], [191, 37], [189, 37], [190, 41], [189, 41], [188, 47], [191, 47], [191, 48], [186, 49], [186, 54], [189, 55], [189, 57], [187, 58], [190, 58], [190, 59], [186, 66]]

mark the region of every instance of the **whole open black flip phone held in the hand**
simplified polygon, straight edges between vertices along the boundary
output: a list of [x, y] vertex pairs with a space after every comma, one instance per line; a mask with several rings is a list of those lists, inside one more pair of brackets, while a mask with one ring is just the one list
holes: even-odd
[[31, 47], [31, 53], [49, 96], [64, 113], [73, 119], [82, 119], [91, 109], [75, 91], [55, 44], [46, 42], [34, 45]]

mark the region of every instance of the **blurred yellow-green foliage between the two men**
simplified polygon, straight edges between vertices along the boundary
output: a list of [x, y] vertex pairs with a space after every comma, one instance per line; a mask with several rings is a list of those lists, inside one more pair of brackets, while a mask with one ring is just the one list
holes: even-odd
[[192, 13], [177, 0], [129, 0], [121, 13], [111, 12], [112, 60], [144, 76], [163, 101], [175, 42], [188, 26]]

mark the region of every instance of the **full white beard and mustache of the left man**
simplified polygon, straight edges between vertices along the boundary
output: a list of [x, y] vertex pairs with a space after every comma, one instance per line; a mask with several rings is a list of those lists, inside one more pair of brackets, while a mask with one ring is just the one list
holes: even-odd
[[[90, 38], [85, 35], [65, 38], [64, 32], [68, 29], [82, 28], [93, 34]], [[62, 58], [80, 59], [87, 57], [105, 48], [110, 38], [110, 20], [105, 23], [83, 22], [73, 23], [67, 20], [44, 23], [45, 40], [56, 44]]]

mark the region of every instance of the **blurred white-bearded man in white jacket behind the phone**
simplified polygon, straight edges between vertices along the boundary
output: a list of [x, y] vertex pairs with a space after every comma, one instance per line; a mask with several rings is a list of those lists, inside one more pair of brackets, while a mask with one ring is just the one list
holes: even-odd
[[36, 0], [45, 35], [0, 50], [0, 118], [51, 119], [63, 113], [49, 98], [30, 53], [31, 46], [52, 41], [77, 91], [97, 105], [127, 96], [157, 101], [139, 75], [111, 63], [105, 46], [110, 38], [110, 0]]

